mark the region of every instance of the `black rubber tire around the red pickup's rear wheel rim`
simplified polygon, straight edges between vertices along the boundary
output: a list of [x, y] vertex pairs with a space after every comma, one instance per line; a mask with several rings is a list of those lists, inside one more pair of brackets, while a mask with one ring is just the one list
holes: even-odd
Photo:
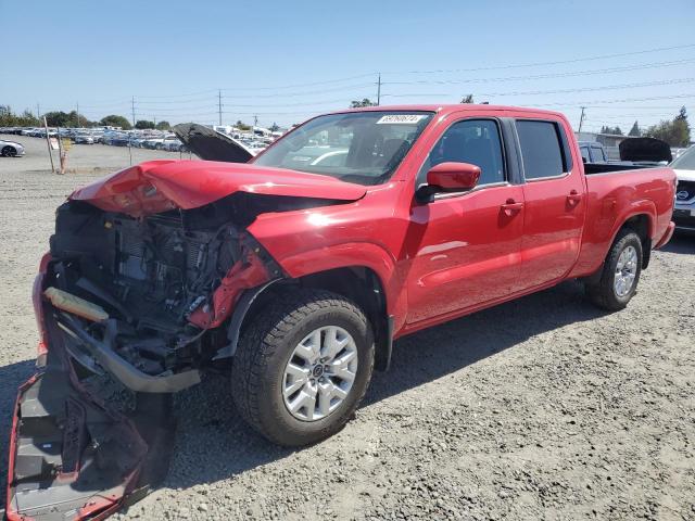
[[[636, 272], [630, 291], [624, 295], [619, 295], [615, 288], [616, 269], [620, 254], [629, 246], [634, 247], [637, 253]], [[643, 252], [640, 236], [629, 228], [620, 230], [601, 268], [601, 278], [596, 282], [586, 283], [589, 300], [596, 306], [609, 312], [623, 309], [637, 291], [637, 283], [642, 274], [642, 258]]]

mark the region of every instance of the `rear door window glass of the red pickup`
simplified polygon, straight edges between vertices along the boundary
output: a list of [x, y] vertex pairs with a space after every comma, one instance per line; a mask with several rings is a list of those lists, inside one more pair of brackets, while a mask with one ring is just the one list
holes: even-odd
[[517, 120], [517, 134], [526, 179], [558, 177], [565, 173], [563, 142], [556, 123]]

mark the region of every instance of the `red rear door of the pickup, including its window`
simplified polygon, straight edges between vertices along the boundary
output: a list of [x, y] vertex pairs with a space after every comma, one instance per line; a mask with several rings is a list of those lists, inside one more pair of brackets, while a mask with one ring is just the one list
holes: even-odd
[[517, 119], [523, 165], [521, 280], [526, 289], [563, 278], [579, 256], [584, 182], [560, 120]]

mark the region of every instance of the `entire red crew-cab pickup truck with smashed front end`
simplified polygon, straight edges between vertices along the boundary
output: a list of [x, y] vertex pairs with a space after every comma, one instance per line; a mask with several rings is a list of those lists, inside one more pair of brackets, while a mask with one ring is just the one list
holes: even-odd
[[[267, 439], [313, 443], [353, 415], [394, 339], [567, 279], [621, 309], [673, 231], [673, 171], [584, 165], [555, 112], [346, 111], [255, 157], [191, 129], [203, 158], [248, 164], [148, 162], [58, 209], [34, 290], [41, 369], [11, 436], [11, 519], [136, 497], [166, 396], [205, 371], [228, 371]], [[89, 382], [104, 372], [135, 391], [135, 411], [98, 399]]]

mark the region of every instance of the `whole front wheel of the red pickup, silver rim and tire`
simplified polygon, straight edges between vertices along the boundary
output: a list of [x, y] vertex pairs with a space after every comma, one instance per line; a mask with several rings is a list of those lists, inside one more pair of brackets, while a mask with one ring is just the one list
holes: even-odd
[[307, 445], [342, 429], [372, 368], [364, 313], [334, 293], [298, 290], [269, 304], [243, 331], [232, 397], [244, 420], [269, 441]]

